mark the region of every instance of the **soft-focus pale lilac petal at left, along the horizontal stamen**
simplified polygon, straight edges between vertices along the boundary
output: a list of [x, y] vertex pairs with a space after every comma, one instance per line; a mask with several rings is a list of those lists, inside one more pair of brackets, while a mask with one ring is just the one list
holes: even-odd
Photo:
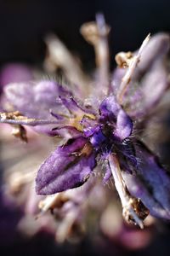
[[[33, 124], [36, 125], [34, 130], [48, 134], [49, 136], [55, 136], [56, 132], [53, 131], [53, 128], [56, 127], [56, 125], [53, 125], [53, 123], [57, 123], [58, 119], [59, 124], [61, 124], [60, 116], [57, 113], [68, 114], [65, 106], [63, 106], [60, 101], [57, 102], [57, 98], [59, 98], [59, 96], [71, 97], [71, 93], [53, 81], [42, 81], [34, 84], [8, 84], [5, 87], [4, 96], [6, 99], [3, 100], [3, 108], [12, 105], [14, 110], [20, 111], [20, 113], [28, 118], [47, 120], [47, 125], [45, 122], [42, 122], [42, 124], [40, 124], [41, 122], [39, 121], [35, 122], [35, 124]], [[8, 110], [8, 107], [6, 110]], [[31, 123], [28, 125], [31, 125]]]

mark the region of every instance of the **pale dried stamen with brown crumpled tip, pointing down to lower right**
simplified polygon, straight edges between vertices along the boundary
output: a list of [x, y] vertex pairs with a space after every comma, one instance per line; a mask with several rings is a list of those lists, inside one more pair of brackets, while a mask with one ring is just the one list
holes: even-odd
[[139, 202], [139, 200], [136, 198], [133, 198], [131, 195], [128, 194], [126, 185], [122, 178], [121, 168], [119, 166], [119, 162], [115, 154], [110, 154], [109, 164], [111, 167], [112, 175], [115, 180], [116, 190], [122, 201], [123, 218], [125, 218], [127, 222], [133, 221], [135, 224], [139, 225], [140, 229], [143, 229], [144, 228], [143, 221], [141, 218], [139, 218], [140, 212], [137, 212], [138, 210], [137, 202]]

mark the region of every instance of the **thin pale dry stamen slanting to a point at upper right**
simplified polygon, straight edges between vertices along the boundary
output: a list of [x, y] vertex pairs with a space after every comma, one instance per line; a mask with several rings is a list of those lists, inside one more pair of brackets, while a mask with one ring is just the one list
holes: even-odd
[[133, 59], [130, 62], [129, 67], [127, 68], [127, 73], [125, 73], [124, 77], [122, 78], [122, 83], [120, 85], [120, 88], [119, 88], [117, 96], [116, 96], [117, 102], [119, 102], [120, 104], [122, 104], [123, 96], [124, 96], [125, 92], [127, 91], [127, 86], [130, 83], [130, 81], [133, 77], [135, 68], [137, 67], [137, 65], [140, 61], [142, 51], [144, 50], [145, 46], [148, 44], [149, 40], [150, 40], [150, 34], [144, 39], [144, 42], [142, 43], [142, 45], [139, 48], [138, 54], [133, 56]]

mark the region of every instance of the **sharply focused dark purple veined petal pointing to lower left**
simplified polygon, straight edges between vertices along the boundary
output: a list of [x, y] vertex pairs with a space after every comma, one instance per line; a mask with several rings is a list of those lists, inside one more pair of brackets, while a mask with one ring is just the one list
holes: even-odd
[[37, 194], [51, 195], [87, 181], [96, 165], [95, 155], [87, 143], [83, 137], [71, 139], [45, 160], [37, 173]]

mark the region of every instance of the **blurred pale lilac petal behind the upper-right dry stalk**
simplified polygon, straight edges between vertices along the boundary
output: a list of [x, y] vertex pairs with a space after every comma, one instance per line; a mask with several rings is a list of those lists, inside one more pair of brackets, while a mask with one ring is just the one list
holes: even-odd
[[[139, 118], [148, 114], [167, 90], [169, 82], [165, 57], [169, 50], [169, 43], [169, 35], [159, 33], [152, 37], [144, 48], [123, 98], [123, 106], [130, 117]], [[110, 92], [116, 95], [125, 73], [126, 69], [116, 68]]]

